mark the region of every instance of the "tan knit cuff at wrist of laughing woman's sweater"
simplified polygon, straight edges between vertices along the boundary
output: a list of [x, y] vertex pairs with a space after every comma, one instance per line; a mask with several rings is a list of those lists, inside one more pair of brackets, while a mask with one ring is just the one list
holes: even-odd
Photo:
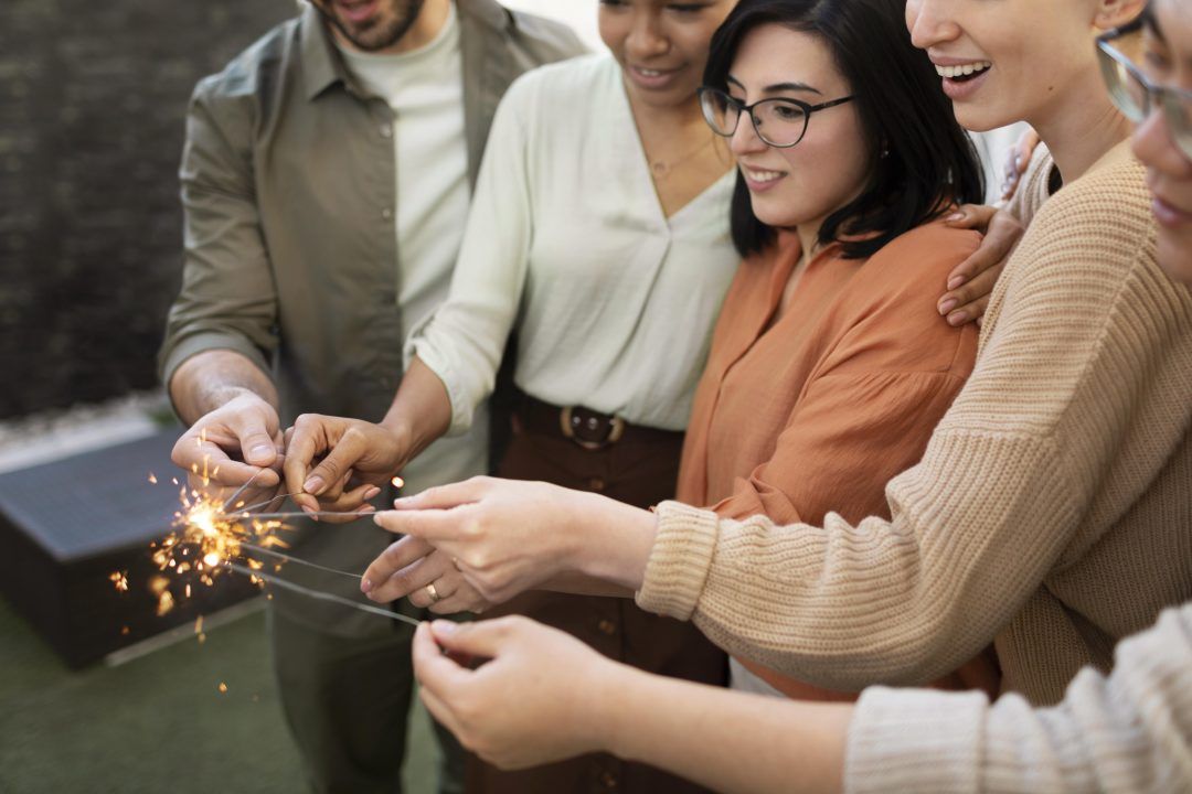
[[662, 502], [656, 513], [658, 531], [637, 594], [638, 606], [690, 620], [712, 568], [720, 518], [673, 501]]

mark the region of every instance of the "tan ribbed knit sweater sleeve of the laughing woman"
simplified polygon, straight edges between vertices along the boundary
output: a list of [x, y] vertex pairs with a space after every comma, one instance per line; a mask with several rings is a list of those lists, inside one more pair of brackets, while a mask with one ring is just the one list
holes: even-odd
[[[890, 520], [776, 526], [664, 504], [638, 604], [691, 615], [730, 652], [832, 689], [924, 683], [985, 648], [1182, 444], [1188, 373], [1168, 363], [1187, 356], [1192, 301], [1154, 263], [1142, 169], [1107, 165], [1049, 201], [991, 314], [923, 462], [887, 487]], [[1122, 605], [1123, 625], [1146, 601], [1103, 600]], [[1043, 700], [1062, 694], [1072, 658], [1089, 657], [1068, 646], [1079, 636], [1047, 627], [1017, 639], [1044, 648], [1029, 674]]]

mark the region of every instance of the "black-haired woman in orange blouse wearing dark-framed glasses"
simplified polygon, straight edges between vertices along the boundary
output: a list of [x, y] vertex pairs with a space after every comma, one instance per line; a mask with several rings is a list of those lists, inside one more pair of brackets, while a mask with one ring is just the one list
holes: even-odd
[[[982, 195], [975, 154], [899, 0], [741, 2], [704, 82], [704, 118], [738, 162], [732, 232], [746, 261], [676, 498], [783, 523], [888, 514], [886, 482], [921, 457], [976, 355], [976, 327], [933, 311], [979, 243], [943, 223]], [[380, 601], [410, 592], [406, 576], [377, 581]], [[732, 683], [855, 698], [749, 659], [733, 661]], [[997, 668], [982, 656], [938, 684], [995, 692]]]

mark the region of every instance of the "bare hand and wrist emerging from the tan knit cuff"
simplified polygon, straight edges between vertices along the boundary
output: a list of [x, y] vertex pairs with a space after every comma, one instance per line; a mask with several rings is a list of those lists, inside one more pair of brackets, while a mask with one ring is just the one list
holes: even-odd
[[[453, 559], [492, 604], [567, 574], [635, 588], [645, 575], [654, 520], [646, 511], [545, 482], [473, 477], [416, 496], [375, 521], [427, 542]], [[393, 574], [410, 564], [414, 546], [397, 544], [365, 571], [370, 587], [396, 596]]]

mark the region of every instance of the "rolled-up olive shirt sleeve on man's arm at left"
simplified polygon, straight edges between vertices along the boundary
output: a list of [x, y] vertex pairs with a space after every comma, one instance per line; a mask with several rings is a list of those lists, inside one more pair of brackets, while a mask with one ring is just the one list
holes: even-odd
[[268, 371], [278, 345], [277, 290], [253, 179], [254, 101], [230, 90], [223, 75], [200, 82], [191, 99], [179, 171], [182, 287], [159, 354], [167, 385], [184, 361], [213, 349]]

